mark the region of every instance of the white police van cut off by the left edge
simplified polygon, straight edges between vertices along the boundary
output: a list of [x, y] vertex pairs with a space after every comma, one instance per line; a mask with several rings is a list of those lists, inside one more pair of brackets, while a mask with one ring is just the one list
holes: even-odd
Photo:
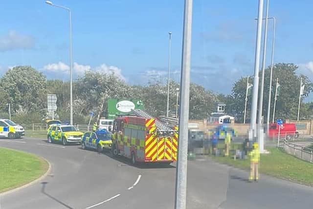
[[0, 137], [15, 139], [21, 138], [24, 134], [25, 131], [21, 125], [9, 119], [0, 119]]

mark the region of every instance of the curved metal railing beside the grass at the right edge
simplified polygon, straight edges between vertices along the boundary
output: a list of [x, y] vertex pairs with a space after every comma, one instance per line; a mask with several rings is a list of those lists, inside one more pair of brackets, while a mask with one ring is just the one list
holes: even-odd
[[278, 147], [284, 148], [284, 150], [293, 155], [296, 158], [312, 163], [313, 158], [313, 149], [296, 144], [294, 141], [290, 141], [287, 139], [278, 140]]

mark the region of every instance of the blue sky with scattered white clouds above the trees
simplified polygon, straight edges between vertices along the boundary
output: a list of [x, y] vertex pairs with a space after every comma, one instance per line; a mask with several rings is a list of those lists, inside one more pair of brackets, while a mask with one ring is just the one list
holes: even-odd
[[[266, 2], [266, 0], [265, 0]], [[183, 0], [53, 0], [72, 15], [73, 76], [115, 73], [129, 84], [165, 82], [169, 31], [171, 78], [179, 81]], [[30, 65], [48, 79], [69, 79], [67, 10], [45, 0], [1, 0], [0, 74]], [[264, 5], [265, 6], [265, 5]], [[295, 63], [313, 81], [312, 0], [270, 0], [277, 19], [274, 63]], [[258, 0], [194, 0], [191, 80], [216, 93], [252, 75]], [[266, 66], [270, 65], [268, 22]]]

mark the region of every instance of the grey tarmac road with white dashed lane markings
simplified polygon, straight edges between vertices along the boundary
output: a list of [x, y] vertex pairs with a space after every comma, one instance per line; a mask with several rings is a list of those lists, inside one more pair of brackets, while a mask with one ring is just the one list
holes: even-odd
[[[52, 166], [42, 181], [0, 195], [0, 209], [173, 209], [174, 166], [134, 167], [124, 158], [82, 150], [78, 145], [48, 144], [45, 139], [0, 139], [0, 146], [31, 152]], [[262, 162], [261, 162], [262, 163]], [[313, 188], [248, 174], [198, 159], [188, 162], [188, 209], [311, 208]]]

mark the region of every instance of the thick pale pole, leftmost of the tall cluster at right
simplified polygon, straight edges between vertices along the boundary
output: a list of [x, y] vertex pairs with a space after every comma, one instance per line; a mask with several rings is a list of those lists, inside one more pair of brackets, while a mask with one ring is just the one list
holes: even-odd
[[[255, 58], [254, 58], [255, 60], [254, 61], [254, 80], [253, 80], [253, 93], [252, 93], [252, 104], [251, 104], [251, 121], [250, 121], [250, 131], [252, 131], [251, 134], [253, 134], [254, 136], [256, 134], [255, 128], [256, 128], [256, 114], [257, 114], [257, 104], [258, 104], [262, 20], [263, 20], [263, 0], [259, 0], [258, 27], [257, 27], [257, 34], [256, 34], [256, 47], [255, 47]], [[250, 137], [253, 137], [253, 136], [250, 135]]]

